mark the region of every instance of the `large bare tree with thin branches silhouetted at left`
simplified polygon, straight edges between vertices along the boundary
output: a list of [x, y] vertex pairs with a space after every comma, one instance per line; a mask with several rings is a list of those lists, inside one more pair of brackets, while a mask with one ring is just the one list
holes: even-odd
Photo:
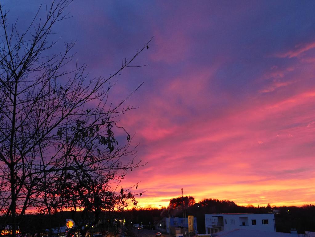
[[[10, 225], [12, 236], [27, 210], [50, 215], [80, 210], [89, 213], [89, 223], [82, 218], [76, 226], [88, 230], [102, 210], [122, 209], [137, 195], [123, 190], [121, 180], [143, 163], [135, 162], [136, 147], [117, 123], [134, 109], [123, 103], [137, 88], [114, 105], [110, 79], [135, 67], [130, 62], [152, 39], [108, 78], [88, 80], [85, 65], [65, 67], [73, 42], [64, 53], [49, 54], [56, 44], [49, 40], [52, 27], [69, 17], [70, 3], [53, 1], [46, 18], [39, 20], [37, 12], [23, 33], [16, 25], [9, 29], [0, 3], [0, 212], [2, 228]], [[125, 133], [125, 142], [118, 143], [116, 130]]]

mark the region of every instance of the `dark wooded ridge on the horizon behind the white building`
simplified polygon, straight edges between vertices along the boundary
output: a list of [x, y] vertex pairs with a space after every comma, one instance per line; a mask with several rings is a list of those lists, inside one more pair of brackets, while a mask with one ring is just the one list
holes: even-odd
[[[189, 200], [189, 201], [188, 201]], [[189, 197], [172, 198], [168, 207], [159, 209], [141, 209], [130, 210], [129, 217], [134, 223], [143, 222], [144, 225], [156, 223], [163, 217], [168, 217], [168, 209], [170, 216], [183, 217], [186, 210], [186, 217], [192, 215], [197, 217], [197, 229], [199, 233], [205, 233], [204, 214], [211, 213], [272, 213], [275, 214], [276, 231], [290, 232], [291, 228], [296, 228], [299, 233], [304, 231], [315, 231], [315, 205], [303, 205], [302, 207], [295, 206], [267, 206], [254, 207], [239, 206], [229, 200], [218, 200], [205, 198], [196, 203], [195, 199]], [[150, 228], [150, 227], [149, 227]]]

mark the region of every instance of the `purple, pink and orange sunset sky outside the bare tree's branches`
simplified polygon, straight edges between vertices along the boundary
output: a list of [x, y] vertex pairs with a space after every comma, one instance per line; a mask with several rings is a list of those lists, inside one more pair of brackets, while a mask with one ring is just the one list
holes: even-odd
[[[4, 1], [23, 29], [39, 1]], [[44, 7], [44, 5], [42, 6]], [[314, 1], [74, 1], [55, 25], [91, 78], [116, 77], [120, 124], [147, 165], [140, 206], [181, 195], [240, 205], [315, 204]], [[135, 190], [135, 191], [138, 191]]]

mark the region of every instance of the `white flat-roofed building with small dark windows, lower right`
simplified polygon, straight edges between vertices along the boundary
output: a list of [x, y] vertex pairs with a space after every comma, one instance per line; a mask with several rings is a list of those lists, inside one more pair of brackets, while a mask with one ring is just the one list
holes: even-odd
[[274, 214], [205, 214], [206, 234], [234, 229], [276, 232]]

